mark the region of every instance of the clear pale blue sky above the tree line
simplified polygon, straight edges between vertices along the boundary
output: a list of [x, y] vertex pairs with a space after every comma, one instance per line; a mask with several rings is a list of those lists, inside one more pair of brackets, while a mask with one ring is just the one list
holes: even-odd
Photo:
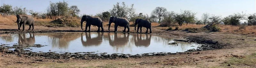
[[[13, 7], [22, 6], [28, 10], [44, 12], [49, 6], [49, 2], [59, 2], [63, 0], [0, 0], [0, 4], [11, 4]], [[165, 7], [167, 11], [180, 12], [180, 10], [190, 10], [196, 12], [196, 17], [201, 18], [203, 13], [210, 13], [228, 16], [233, 13], [244, 11], [247, 14], [256, 13], [256, 0], [65, 0], [68, 5], [77, 5], [80, 14], [100, 13], [108, 11], [117, 2], [125, 2], [126, 5], [134, 4], [136, 13], [150, 15], [156, 7]]]

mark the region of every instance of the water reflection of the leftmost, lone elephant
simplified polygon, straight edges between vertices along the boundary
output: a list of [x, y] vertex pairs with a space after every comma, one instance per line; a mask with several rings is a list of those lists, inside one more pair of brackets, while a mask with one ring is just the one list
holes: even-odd
[[21, 34], [19, 34], [19, 44], [30, 44], [33, 45], [35, 44], [35, 34], [33, 33], [33, 36], [31, 35], [31, 33], [29, 33], [29, 38], [26, 38], [26, 34], [23, 34], [23, 37]]

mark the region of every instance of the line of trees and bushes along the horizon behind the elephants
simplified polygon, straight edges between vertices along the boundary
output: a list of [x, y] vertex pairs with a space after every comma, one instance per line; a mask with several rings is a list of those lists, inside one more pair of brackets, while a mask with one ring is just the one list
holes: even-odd
[[[195, 17], [196, 12], [189, 10], [180, 10], [180, 12], [167, 11], [164, 7], [156, 7], [152, 10], [151, 15], [143, 13], [135, 13], [134, 4], [130, 6], [126, 5], [124, 2], [116, 3], [113, 5], [113, 8], [108, 11], [103, 11], [97, 13], [94, 16], [100, 17], [103, 21], [108, 21], [109, 17], [116, 16], [121, 18], [127, 18], [130, 21], [134, 22], [135, 19], [149, 19], [151, 22], [158, 22], [160, 26], [181, 26], [183, 24], [212, 24], [212, 23], [223, 23], [225, 25], [240, 25], [242, 19], [247, 20], [248, 25], [256, 25], [256, 13], [254, 14], [245, 14], [245, 13], [234, 13], [227, 17], [221, 18], [220, 15], [210, 15], [209, 13], [203, 13], [201, 19]], [[81, 18], [79, 15], [79, 8], [76, 5], [68, 7], [66, 1], [59, 1], [56, 3], [49, 3], [46, 12], [35, 12], [33, 10], [28, 11], [26, 8], [14, 7], [12, 5], [3, 4], [0, 7], [1, 15], [16, 15], [23, 14], [27, 15], [27, 12], [30, 13], [33, 17], [42, 18], [42, 19], [56, 19], [60, 16], [73, 16]], [[92, 15], [91, 15], [92, 16]]]

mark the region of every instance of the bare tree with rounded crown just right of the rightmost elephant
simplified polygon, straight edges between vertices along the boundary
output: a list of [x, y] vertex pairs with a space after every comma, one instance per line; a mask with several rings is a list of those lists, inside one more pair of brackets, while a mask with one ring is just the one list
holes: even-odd
[[160, 22], [163, 16], [165, 16], [167, 13], [166, 8], [164, 7], [156, 7], [152, 12], [151, 12], [151, 17], [152, 18], [157, 18]]

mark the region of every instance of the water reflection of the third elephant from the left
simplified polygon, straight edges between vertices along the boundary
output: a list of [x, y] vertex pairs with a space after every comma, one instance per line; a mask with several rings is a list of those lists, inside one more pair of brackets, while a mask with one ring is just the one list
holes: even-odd
[[108, 33], [108, 41], [109, 41], [109, 45], [113, 46], [113, 47], [123, 47], [125, 46], [128, 41], [129, 41], [129, 34], [123, 34], [124, 37], [121, 37], [122, 34], [118, 34], [115, 33], [114, 34], [114, 40], [113, 38], [110, 37], [110, 33]]

